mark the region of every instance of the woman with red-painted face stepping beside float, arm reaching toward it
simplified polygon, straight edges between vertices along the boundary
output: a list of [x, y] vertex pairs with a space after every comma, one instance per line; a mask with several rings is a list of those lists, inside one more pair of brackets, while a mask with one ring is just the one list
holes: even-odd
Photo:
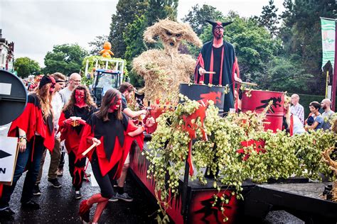
[[142, 149], [143, 132], [146, 126], [154, 125], [154, 119], [149, 118], [144, 126], [137, 127], [122, 113], [121, 104], [120, 92], [109, 89], [102, 99], [100, 111], [92, 114], [83, 131], [80, 152], [84, 152], [93, 143], [97, 144], [94, 150], [88, 152], [87, 157], [101, 190], [100, 194], [80, 203], [79, 215], [85, 222], [90, 220], [90, 208], [94, 203], [97, 203], [97, 208], [92, 223], [98, 222], [109, 198], [114, 198], [113, 180], [119, 178], [132, 142], [137, 140]]

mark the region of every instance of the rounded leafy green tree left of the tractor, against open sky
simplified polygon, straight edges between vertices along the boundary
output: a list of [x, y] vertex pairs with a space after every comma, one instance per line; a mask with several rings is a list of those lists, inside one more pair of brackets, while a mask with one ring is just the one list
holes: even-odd
[[65, 75], [80, 73], [82, 60], [87, 55], [87, 51], [77, 44], [55, 45], [52, 52], [47, 52], [43, 72], [61, 72]]

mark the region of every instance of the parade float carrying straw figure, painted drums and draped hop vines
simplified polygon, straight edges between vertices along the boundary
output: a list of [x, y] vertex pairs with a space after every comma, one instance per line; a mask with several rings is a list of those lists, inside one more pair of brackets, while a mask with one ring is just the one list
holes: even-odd
[[[159, 223], [237, 223], [264, 218], [272, 210], [305, 221], [336, 222], [336, 202], [321, 197], [325, 184], [310, 182], [331, 174], [321, 152], [335, 147], [336, 132], [290, 136], [282, 131], [285, 94], [244, 86], [242, 112], [224, 116], [228, 86], [181, 84], [193, 66], [178, 52], [176, 37], [183, 40], [186, 33], [187, 40], [197, 45], [198, 40], [187, 26], [174, 28], [177, 24], [164, 20], [148, 28], [144, 40], [151, 43], [159, 36], [164, 50], [149, 50], [134, 60], [156, 125], [148, 130], [144, 149], [130, 152], [130, 167], [156, 198]], [[326, 159], [332, 151], [325, 152]], [[280, 183], [288, 183], [288, 189]]]

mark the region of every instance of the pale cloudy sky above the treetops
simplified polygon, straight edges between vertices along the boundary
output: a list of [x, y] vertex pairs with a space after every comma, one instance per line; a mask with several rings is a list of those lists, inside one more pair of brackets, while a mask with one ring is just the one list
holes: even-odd
[[[0, 0], [2, 37], [14, 41], [15, 57], [30, 57], [44, 67], [43, 58], [53, 45], [78, 43], [89, 50], [88, 42], [109, 33], [117, 0]], [[283, 0], [274, 0], [281, 13]], [[199, 4], [215, 6], [225, 15], [259, 16], [268, 0], [180, 0], [178, 19]]]

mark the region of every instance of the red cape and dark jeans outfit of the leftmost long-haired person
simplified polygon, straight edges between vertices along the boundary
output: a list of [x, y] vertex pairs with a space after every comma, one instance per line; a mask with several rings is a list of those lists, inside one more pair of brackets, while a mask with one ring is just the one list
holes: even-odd
[[33, 198], [33, 186], [38, 177], [43, 150], [46, 147], [51, 152], [54, 147], [53, 115], [50, 112], [47, 118], [43, 117], [41, 104], [36, 94], [28, 95], [27, 106], [23, 113], [11, 123], [8, 136], [19, 137], [18, 128], [26, 132], [26, 150], [18, 152], [13, 184], [11, 186], [3, 186], [0, 208], [9, 206], [16, 182], [26, 170], [28, 172], [23, 184], [21, 203], [31, 201], [31, 198]]

